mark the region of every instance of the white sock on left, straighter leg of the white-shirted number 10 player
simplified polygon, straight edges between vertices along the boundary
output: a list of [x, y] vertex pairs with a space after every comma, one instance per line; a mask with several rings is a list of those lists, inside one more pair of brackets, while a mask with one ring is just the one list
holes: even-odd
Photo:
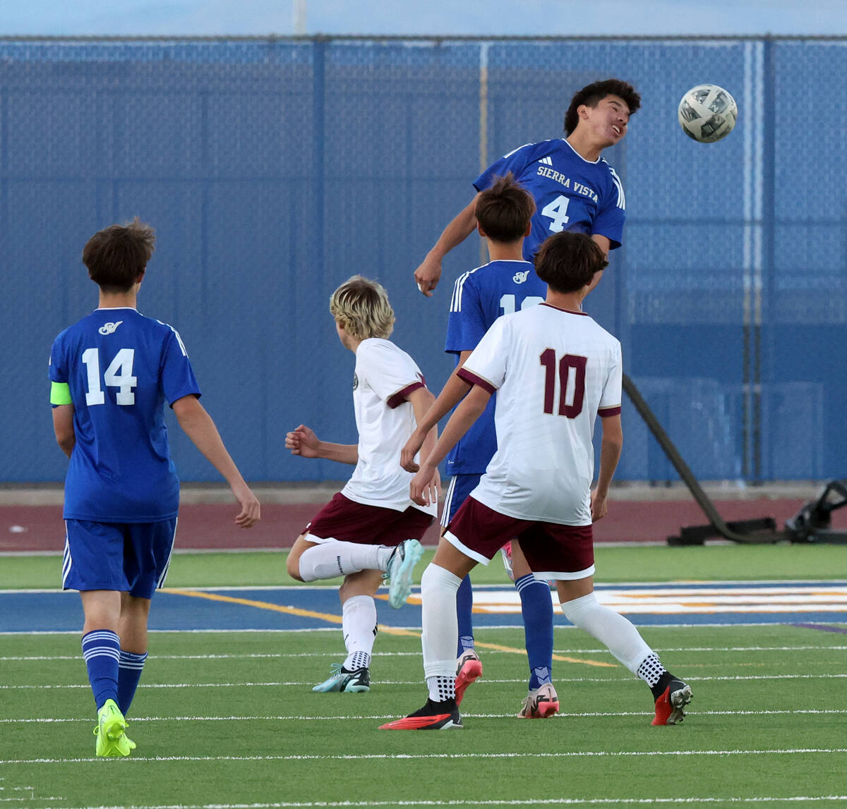
[[429, 678], [456, 677], [459, 636], [456, 592], [461, 583], [457, 575], [437, 564], [429, 564], [421, 576], [421, 647], [424, 651], [424, 677], [428, 684]]

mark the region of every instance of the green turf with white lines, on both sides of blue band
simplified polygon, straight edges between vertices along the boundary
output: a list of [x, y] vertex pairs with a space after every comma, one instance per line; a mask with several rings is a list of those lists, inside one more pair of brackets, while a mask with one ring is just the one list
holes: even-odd
[[[0, 561], [6, 588], [53, 586], [59, 563]], [[597, 563], [599, 581], [847, 578], [844, 548], [601, 548]], [[290, 583], [282, 553], [180, 555], [172, 568], [169, 586]], [[503, 581], [501, 569], [477, 581]], [[378, 729], [424, 702], [408, 633], [380, 635], [368, 694], [311, 691], [342, 657], [337, 628], [156, 633], [130, 712], [138, 747], [124, 760], [93, 758], [78, 636], [0, 636], [0, 807], [847, 806], [847, 636], [787, 625], [643, 634], [692, 685], [682, 725], [650, 727], [645, 685], [565, 627], [562, 713], [519, 720], [525, 658], [490, 647], [519, 648], [523, 633], [483, 629], [465, 728], [409, 733]]]

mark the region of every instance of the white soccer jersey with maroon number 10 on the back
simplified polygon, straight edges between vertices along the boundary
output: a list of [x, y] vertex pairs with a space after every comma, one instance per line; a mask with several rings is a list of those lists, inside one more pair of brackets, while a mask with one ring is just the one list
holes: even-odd
[[459, 376], [497, 392], [497, 452], [471, 495], [523, 520], [591, 523], [595, 418], [621, 409], [621, 344], [549, 304], [504, 315]]

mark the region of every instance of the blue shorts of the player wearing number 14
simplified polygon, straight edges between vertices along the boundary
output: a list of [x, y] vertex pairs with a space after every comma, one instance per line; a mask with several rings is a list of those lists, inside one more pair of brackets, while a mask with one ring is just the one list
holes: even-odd
[[65, 520], [64, 590], [117, 590], [152, 598], [164, 585], [176, 518], [160, 522]]

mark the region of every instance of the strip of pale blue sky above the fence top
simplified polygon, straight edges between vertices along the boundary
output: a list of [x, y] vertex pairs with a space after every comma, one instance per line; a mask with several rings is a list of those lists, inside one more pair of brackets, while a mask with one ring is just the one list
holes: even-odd
[[[299, 30], [298, 30], [299, 29]], [[0, 36], [847, 35], [844, 0], [41, 0]]]

